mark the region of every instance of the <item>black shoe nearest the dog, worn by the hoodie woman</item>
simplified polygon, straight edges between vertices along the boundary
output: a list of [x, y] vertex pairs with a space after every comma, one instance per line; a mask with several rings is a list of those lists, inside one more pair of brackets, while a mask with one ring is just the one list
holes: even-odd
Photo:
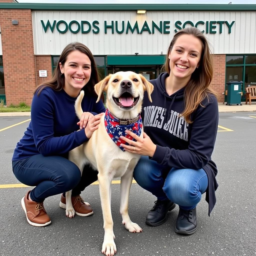
[[167, 218], [167, 212], [175, 208], [174, 202], [170, 200], [156, 200], [153, 208], [148, 212], [146, 224], [150, 226], [162, 225]]

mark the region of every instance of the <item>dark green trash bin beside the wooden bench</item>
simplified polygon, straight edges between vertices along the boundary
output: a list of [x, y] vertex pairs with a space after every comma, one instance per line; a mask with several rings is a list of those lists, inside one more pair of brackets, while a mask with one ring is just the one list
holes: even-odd
[[226, 105], [242, 105], [241, 93], [242, 93], [242, 81], [233, 81], [226, 83], [227, 89], [227, 104]]

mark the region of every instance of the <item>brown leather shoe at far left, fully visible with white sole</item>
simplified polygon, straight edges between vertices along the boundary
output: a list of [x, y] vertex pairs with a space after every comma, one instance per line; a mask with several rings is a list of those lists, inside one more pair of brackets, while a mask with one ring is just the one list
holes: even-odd
[[28, 200], [29, 193], [30, 191], [28, 191], [26, 196], [21, 199], [21, 205], [25, 211], [28, 223], [36, 227], [49, 225], [51, 220], [45, 211], [44, 203], [37, 203], [35, 201]]

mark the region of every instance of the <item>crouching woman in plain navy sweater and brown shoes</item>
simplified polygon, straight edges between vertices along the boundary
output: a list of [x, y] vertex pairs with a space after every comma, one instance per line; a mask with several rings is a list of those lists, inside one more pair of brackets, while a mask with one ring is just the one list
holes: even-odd
[[[31, 122], [12, 158], [16, 178], [28, 186], [35, 186], [21, 201], [27, 221], [33, 226], [51, 223], [43, 205], [45, 198], [64, 193], [60, 205], [65, 208], [65, 192], [70, 189], [76, 214], [93, 214], [80, 193], [97, 180], [98, 173], [85, 166], [81, 177], [79, 168], [67, 158], [70, 150], [89, 140], [98, 129], [102, 115], [98, 113], [105, 112], [103, 95], [96, 103], [94, 85], [97, 82], [98, 73], [91, 51], [81, 43], [74, 43], [62, 51], [52, 80], [35, 89]], [[85, 112], [78, 120], [74, 103], [81, 89], [85, 91], [82, 101]]]

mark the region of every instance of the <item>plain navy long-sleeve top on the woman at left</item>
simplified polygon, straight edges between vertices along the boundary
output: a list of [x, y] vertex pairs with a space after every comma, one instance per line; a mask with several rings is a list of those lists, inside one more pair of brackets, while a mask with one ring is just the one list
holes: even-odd
[[[98, 114], [105, 112], [103, 102], [96, 103], [97, 98], [85, 93], [82, 100], [84, 112]], [[79, 130], [74, 103], [63, 89], [55, 91], [45, 87], [39, 96], [34, 95], [31, 104], [31, 122], [22, 139], [14, 150], [13, 161], [42, 154], [67, 155], [73, 148], [81, 145], [88, 138], [84, 129]]]

